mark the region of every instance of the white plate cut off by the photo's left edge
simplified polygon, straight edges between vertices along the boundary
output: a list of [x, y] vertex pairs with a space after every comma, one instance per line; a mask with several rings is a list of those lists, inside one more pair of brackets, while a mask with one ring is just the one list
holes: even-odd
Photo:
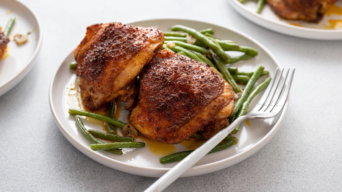
[[[15, 24], [7, 44], [9, 55], [0, 58], [0, 96], [18, 84], [31, 70], [42, 41], [42, 28], [36, 13], [22, 2], [16, 0], [0, 1], [0, 26], [6, 27], [11, 16], [15, 16]], [[18, 46], [13, 40], [16, 33], [29, 35], [28, 42]]]

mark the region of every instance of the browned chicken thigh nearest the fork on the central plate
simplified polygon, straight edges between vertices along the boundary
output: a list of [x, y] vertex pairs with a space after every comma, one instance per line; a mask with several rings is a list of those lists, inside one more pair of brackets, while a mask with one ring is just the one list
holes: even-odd
[[232, 87], [208, 66], [165, 49], [140, 74], [130, 123], [144, 136], [169, 144], [198, 131], [211, 137], [209, 132], [228, 124], [234, 99]]

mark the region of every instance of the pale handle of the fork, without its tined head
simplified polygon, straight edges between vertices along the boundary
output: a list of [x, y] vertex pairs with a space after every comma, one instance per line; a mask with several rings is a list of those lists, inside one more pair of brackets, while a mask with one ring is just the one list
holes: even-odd
[[145, 192], [160, 192], [168, 187], [173, 181], [179, 178], [190, 167], [195, 165], [203, 156], [205, 156], [212, 148], [219, 144], [229, 133], [231, 133], [242, 121], [250, 119], [250, 116], [242, 115], [228, 126], [224, 127], [219, 133], [215, 134], [203, 145], [186, 156], [181, 162], [177, 163], [166, 174], [161, 176], [156, 182], [149, 186]]

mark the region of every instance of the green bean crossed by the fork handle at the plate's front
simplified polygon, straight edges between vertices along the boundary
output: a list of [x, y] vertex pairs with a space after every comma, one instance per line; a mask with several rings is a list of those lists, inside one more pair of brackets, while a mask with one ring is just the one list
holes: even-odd
[[[209, 153], [213, 153], [213, 152], [216, 152], [216, 151], [221, 151], [223, 149], [227, 149], [228, 147], [231, 147], [232, 145], [237, 143], [237, 141], [238, 141], [238, 139], [233, 137], [231, 140], [219, 143], [211, 151], [209, 151]], [[165, 157], [161, 157], [159, 161], [160, 161], [161, 164], [170, 163], [170, 162], [174, 162], [174, 161], [180, 161], [180, 160], [184, 159], [186, 156], [188, 156], [190, 153], [192, 153], [193, 151], [195, 151], [195, 150], [182, 151], [182, 152], [178, 152], [178, 153], [173, 153], [171, 155], [168, 155], [168, 156], [165, 156]]]

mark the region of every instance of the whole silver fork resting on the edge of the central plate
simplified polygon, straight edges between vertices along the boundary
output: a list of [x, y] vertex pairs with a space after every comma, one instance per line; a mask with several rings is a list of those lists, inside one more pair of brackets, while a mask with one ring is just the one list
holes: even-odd
[[247, 119], [268, 119], [273, 118], [282, 110], [290, 92], [291, 83], [294, 75], [294, 68], [286, 70], [284, 79], [281, 81], [284, 69], [279, 72], [276, 69], [272, 81], [269, 83], [264, 95], [258, 104], [246, 115], [240, 116], [231, 124], [223, 128], [219, 133], [203, 143], [199, 148], [190, 153], [181, 162], [175, 165], [166, 174], [154, 182], [145, 192], [159, 192], [168, 187], [173, 181], [179, 178], [190, 167], [197, 163], [212, 148], [221, 142], [231, 133], [240, 123]]

